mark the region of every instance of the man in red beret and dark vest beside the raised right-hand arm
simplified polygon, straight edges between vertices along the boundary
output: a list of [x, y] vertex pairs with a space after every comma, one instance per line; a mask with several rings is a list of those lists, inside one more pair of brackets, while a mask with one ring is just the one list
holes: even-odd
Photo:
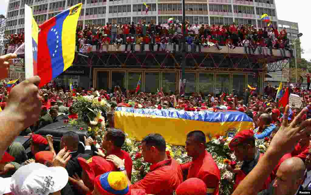
[[[243, 161], [241, 169], [235, 175], [235, 184], [233, 188], [237, 188], [239, 183], [248, 175], [251, 170], [257, 165], [263, 154], [260, 154], [255, 146], [255, 138], [253, 130], [243, 130], [237, 133], [230, 141], [229, 147], [234, 151], [236, 159]], [[271, 182], [270, 177], [265, 181], [261, 190], [267, 189]]]

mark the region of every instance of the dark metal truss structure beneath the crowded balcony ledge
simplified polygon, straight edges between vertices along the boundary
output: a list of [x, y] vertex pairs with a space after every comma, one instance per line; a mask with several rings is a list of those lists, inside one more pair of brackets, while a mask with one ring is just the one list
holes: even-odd
[[[104, 68], [181, 69], [185, 55], [186, 69], [232, 71], [281, 71], [289, 58], [235, 53], [166, 53], [166, 52], [90, 52], [76, 53], [73, 64]], [[87, 57], [86, 57], [87, 56]]]

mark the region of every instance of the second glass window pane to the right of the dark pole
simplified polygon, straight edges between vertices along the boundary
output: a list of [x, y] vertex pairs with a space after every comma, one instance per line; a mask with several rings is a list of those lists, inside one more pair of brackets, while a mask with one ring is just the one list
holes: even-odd
[[214, 88], [214, 74], [213, 73], [200, 73], [199, 74], [199, 93], [205, 96], [213, 93]]

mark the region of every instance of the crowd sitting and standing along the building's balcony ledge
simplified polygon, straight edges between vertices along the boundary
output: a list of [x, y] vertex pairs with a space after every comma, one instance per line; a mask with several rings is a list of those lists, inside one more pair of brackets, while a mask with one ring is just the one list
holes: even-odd
[[[122, 44], [130, 45], [130, 52], [135, 52], [134, 46], [140, 45], [140, 52], [144, 51], [145, 45], [149, 45], [149, 51], [178, 51], [201, 52], [202, 47], [228, 46], [230, 49], [235, 47], [244, 47], [245, 52], [254, 54], [256, 49], [262, 55], [273, 55], [272, 49], [280, 49], [281, 54], [285, 56], [285, 51], [290, 51], [290, 40], [287, 38], [286, 29], [280, 32], [277, 28], [264, 27], [256, 29], [253, 25], [199, 25], [197, 22], [193, 25], [186, 20], [186, 33], [183, 39], [183, 27], [179, 20], [170, 24], [156, 24], [153, 20], [149, 24], [143, 20], [142, 24], [137, 23], [107, 23], [106, 25], [88, 24], [84, 27], [79, 25], [77, 28], [77, 46], [96, 45], [96, 51], [102, 51], [103, 47], [108, 50], [109, 45], [115, 44], [116, 51], [120, 50]], [[157, 47], [155, 47], [157, 46]], [[190, 47], [188, 47], [190, 46]], [[267, 49], [270, 49], [268, 54]], [[190, 52], [190, 51], [188, 51]]]

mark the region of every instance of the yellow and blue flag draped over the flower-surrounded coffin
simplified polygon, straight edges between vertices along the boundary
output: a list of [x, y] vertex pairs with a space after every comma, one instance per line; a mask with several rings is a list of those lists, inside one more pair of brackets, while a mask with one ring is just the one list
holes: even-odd
[[134, 109], [117, 107], [114, 126], [130, 138], [141, 141], [151, 133], [161, 134], [167, 143], [185, 145], [186, 135], [201, 130], [207, 140], [216, 135], [253, 128], [253, 120], [239, 111], [183, 111], [175, 109]]

